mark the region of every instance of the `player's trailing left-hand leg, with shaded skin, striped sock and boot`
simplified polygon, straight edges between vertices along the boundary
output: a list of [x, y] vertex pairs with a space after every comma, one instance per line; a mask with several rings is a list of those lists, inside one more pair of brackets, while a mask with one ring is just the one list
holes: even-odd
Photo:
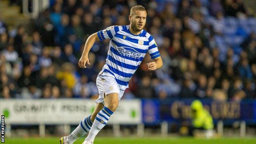
[[73, 130], [73, 132], [67, 136], [62, 137], [60, 139], [60, 144], [73, 144], [75, 140], [79, 139], [80, 137], [86, 135], [89, 130], [91, 129], [91, 125], [98, 114], [98, 112], [101, 111], [101, 109], [104, 107], [102, 103], [97, 103], [94, 112], [89, 116], [83, 119], [80, 124]]

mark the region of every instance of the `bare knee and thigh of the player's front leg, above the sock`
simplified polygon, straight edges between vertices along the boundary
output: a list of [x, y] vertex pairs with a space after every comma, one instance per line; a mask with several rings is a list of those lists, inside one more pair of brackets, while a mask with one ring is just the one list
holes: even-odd
[[118, 106], [118, 102], [119, 102], [118, 95], [119, 95], [118, 93], [114, 92], [114, 93], [107, 94], [104, 97], [105, 106], [109, 108], [112, 112], [114, 112]]

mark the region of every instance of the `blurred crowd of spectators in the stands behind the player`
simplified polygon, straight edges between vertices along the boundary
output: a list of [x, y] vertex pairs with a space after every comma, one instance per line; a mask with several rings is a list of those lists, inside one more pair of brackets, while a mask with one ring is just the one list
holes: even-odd
[[78, 60], [90, 34], [129, 25], [129, 9], [147, 9], [145, 30], [163, 67], [147, 55], [124, 98], [256, 98], [256, 18], [243, 0], [50, 0], [34, 20], [8, 31], [0, 20], [0, 98], [96, 98], [109, 41], [98, 41], [87, 69]]

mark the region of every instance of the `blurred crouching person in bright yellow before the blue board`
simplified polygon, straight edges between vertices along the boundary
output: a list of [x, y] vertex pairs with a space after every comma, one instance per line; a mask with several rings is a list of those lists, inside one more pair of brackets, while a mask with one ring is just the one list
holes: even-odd
[[206, 137], [213, 136], [213, 117], [210, 113], [203, 108], [203, 104], [199, 100], [195, 100], [191, 103], [192, 110], [192, 128], [190, 128], [190, 135], [193, 134], [193, 130], [205, 130]]

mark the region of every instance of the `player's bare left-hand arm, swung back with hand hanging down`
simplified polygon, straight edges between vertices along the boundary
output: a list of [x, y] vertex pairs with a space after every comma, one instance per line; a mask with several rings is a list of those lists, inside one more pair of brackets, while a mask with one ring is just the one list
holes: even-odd
[[88, 39], [85, 42], [85, 48], [82, 52], [82, 56], [79, 59], [78, 62], [78, 66], [80, 68], [86, 68], [86, 64], [90, 64], [89, 63], [89, 59], [88, 59], [88, 53], [91, 49], [91, 47], [94, 45], [95, 41], [99, 41], [100, 39], [98, 38], [98, 34], [97, 32], [95, 32], [94, 34], [91, 34]]

